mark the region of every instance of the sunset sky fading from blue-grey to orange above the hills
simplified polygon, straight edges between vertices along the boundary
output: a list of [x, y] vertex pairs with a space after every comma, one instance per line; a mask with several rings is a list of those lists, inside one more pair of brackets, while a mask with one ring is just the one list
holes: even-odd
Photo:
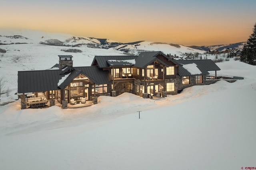
[[1, 0], [0, 16], [0, 28], [217, 45], [247, 41], [256, 0]]

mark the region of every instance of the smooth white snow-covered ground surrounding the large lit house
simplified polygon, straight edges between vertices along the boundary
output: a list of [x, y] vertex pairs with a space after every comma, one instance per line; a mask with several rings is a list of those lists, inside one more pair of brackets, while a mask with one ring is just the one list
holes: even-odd
[[[50, 68], [58, 63], [58, 55], [73, 55], [74, 65], [84, 66], [91, 64], [94, 55], [121, 54], [86, 47], [88, 55], [67, 54], [60, 51], [63, 47], [38, 44], [3, 47], [8, 51], [0, 57], [0, 77], [12, 90], [9, 97], [1, 96], [1, 103], [17, 98], [18, 70]], [[217, 65], [218, 76], [244, 80], [193, 86], [161, 100], [129, 93], [101, 96], [98, 104], [78, 109], [21, 110], [20, 101], [0, 106], [0, 169], [255, 167], [256, 66], [232, 59]]]

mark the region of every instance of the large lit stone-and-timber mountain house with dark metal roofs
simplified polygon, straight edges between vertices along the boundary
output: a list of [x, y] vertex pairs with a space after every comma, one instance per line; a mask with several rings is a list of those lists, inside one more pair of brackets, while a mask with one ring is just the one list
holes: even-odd
[[63, 108], [82, 101], [96, 104], [98, 96], [118, 96], [124, 92], [161, 98], [190, 86], [209, 84], [208, 71], [215, 70], [216, 77], [216, 71], [220, 70], [211, 60], [173, 60], [160, 51], [134, 56], [95, 56], [91, 66], [82, 67], [73, 66], [71, 55], [58, 57], [57, 69], [18, 72], [22, 109], [42, 106], [48, 100], [50, 106], [56, 101]]

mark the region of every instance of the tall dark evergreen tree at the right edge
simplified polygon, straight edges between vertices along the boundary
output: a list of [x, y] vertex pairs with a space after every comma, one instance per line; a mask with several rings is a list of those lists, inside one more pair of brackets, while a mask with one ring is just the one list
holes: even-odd
[[250, 35], [241, 52], [240, 61], [256, 65], [256, 23], [252, 30], [252, 35]]

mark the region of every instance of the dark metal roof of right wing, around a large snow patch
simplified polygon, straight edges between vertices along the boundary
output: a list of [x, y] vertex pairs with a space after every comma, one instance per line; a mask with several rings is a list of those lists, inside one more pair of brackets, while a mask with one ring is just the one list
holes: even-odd
[[[176, 60], [179, 66], [180, 76], [190, 76], [190, 75], [208, 75], [208, 71], [220, 70], [220, 68], [210, 59], [206, 60]], [[188, 70], [182, 67], [183, 64], [195, 63], [197, 68], [202, 72], [202, 74], [191, 74]]]

